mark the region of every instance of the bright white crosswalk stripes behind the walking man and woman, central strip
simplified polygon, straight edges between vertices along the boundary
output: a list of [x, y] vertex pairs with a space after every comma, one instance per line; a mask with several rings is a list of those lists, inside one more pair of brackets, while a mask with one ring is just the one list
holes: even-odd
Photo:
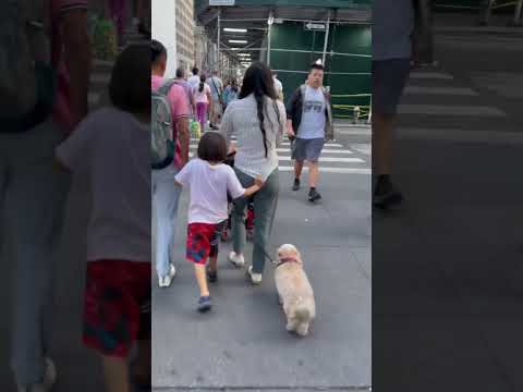
[[[192, 138], [190, 156], [194, 157], [198, 147], [198, 139]], [[291, 144], [284, 140], [277, 148], [280, 171], [291, 172], [294, 162], [291, 158]], [[332, 174], [370, 174], [370, 149], [368, 146], [345, 147], [341, 143], [326, 143], [319, 158], [319, 171]], [[307, 168], [304, 168], [307, 171]]]

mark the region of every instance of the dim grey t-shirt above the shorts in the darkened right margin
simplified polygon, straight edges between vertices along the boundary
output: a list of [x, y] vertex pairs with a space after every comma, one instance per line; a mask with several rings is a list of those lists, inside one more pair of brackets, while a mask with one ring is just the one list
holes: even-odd
[[375, 0], [373, 60], [410, 59], [413, 30], [412, 0]]

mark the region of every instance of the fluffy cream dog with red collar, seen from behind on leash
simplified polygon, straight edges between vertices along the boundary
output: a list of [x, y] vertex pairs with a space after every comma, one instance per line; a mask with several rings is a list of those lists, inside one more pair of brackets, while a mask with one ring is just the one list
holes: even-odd
[[313, 287], [303, 270], [302, 256], [294, 245], [281, 245], [278, 260], [275, 280], [287, 316], [287, 330], [304, 336], [316, 316]]

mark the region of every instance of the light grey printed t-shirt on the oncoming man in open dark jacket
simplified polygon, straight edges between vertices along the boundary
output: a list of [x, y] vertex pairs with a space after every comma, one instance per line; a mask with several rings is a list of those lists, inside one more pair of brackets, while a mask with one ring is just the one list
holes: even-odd
[[303, 99], [302, 122], [297, 131], [297, 137], [312, 139], [325, 138], [325, 96], [321, 88], [312, 88], [309, 86], [305, 89], [305, 97]]

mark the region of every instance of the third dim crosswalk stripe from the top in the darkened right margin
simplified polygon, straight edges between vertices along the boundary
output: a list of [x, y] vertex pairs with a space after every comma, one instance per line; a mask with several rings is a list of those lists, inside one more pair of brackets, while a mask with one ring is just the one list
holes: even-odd
[[484, 106], [400, 105], [400, 114], [506, 117], [499, 109]]

